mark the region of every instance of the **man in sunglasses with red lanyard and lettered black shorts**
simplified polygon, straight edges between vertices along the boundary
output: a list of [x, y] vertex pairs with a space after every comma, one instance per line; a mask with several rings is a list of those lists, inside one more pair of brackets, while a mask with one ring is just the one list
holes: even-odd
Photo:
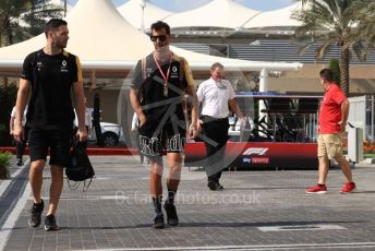
[[[131, 84], [130, 99], [140, 119], [140, 154], [150, 164], [150, 193], [156, 217], [155, 228], [164, 228], [161, 211], [162, 152], [167, 152], [168, 198], [165, 203], [167, 222], [177, 226], [179, 218], [174, 194], [181, 179], [182, 151], [189, 138], [196, 136], [197, 98], [188, 61], [169, 49], [170, 27], [164, 22], [152, 25], [150, 39], [155, 50], [138, 61]], [[192, 104], [191, 124], [186, 129], [186, 103]]]

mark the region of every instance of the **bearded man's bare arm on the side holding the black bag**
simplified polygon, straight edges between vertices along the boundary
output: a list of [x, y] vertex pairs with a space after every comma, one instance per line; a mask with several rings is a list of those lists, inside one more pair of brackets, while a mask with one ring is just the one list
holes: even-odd
[[75, 111], [78, 118], [77, 135], [80, 138], [80, 141], [85, 141], [87, 139], [87, 131], [85, 127], [85, 96], [83, 93], [82, 81], [73, 83], [73, 95], [74, 95]]

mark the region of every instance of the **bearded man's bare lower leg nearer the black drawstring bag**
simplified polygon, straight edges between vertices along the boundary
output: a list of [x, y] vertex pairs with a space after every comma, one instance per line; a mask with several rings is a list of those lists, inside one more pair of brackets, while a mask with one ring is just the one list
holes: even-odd
[[51, 165], [52, 183], [49, 189], [49, 206], [47, 215], [55, 215], [63, 186], [63, 168]]

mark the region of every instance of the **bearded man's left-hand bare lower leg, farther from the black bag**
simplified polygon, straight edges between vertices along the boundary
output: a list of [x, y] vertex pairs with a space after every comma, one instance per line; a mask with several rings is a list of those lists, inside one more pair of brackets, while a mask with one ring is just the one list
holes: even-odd
[[32, 187], [34, 203], [39, 204], [41, 202], [41, 186], [43, 186], [43, 168], [45, 167], [45, 160], [32, 162], [28, 179]]

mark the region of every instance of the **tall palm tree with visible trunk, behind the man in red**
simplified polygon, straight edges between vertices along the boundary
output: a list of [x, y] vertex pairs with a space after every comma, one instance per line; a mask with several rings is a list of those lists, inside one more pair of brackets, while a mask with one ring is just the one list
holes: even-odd
[[[360, 19], [354, 7], [363, 7], [363, 0], [302, 0], [301, 10], [292, 17], [302, 23], [295, 28], [295, 38], [305, 41], [300, 52], [317, 43], [315, 59], [324, 58], [326, 52], [337, 45], [341, 48], [340, 79], [341, 89], [349, 94], [349, 61], [352, 55], [361, 59], [363, 43], [356, 25]], [[306, 5], [307, 3], [307, 5]]]

